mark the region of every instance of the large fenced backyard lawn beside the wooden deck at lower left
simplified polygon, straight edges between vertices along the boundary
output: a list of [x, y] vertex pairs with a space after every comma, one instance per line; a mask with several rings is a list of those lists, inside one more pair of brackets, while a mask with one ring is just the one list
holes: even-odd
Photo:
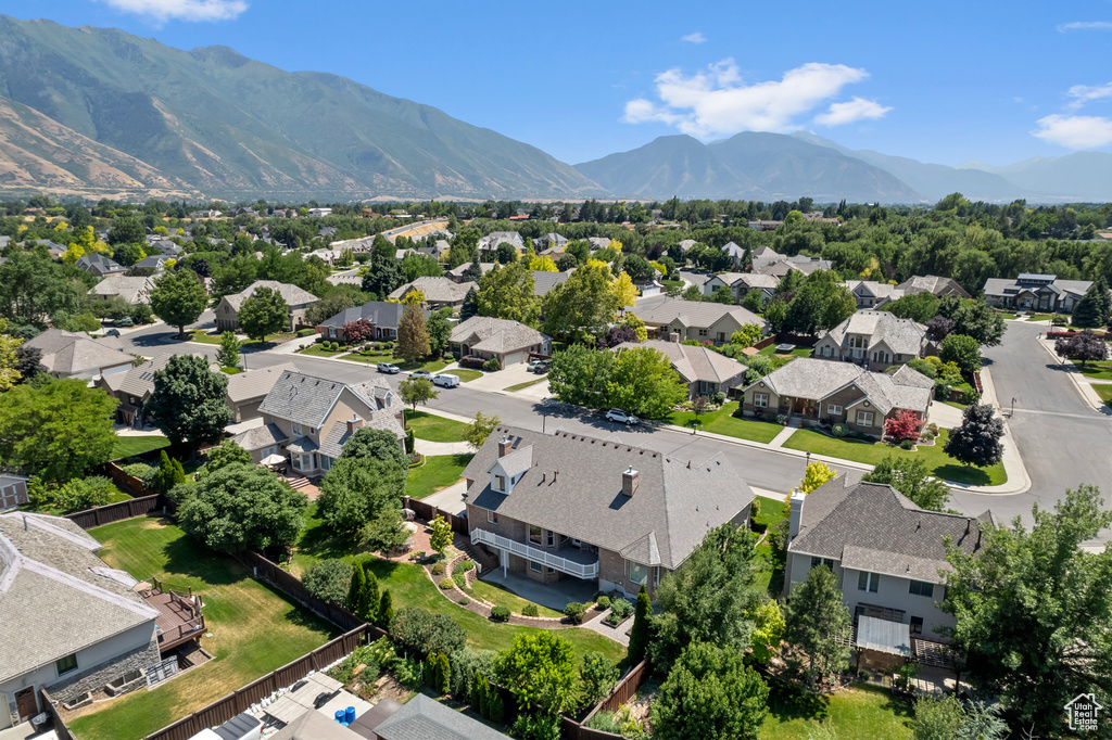
[[97, 704], [95, 713], [70, 723], [81, 740], [142, 738], [338, 634], [252, 580], [235, 560], [198, 544], [167, 520], [129, 519], [89, 533], [105, 543], [100, 554], [109, 566], [201, 593], [212, 634], [201, 644], [216, 660], [152, 691]]

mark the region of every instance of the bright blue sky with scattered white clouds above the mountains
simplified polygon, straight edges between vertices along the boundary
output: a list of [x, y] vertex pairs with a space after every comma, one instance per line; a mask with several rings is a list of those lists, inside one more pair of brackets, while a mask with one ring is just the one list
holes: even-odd
[[1112, 151], [1112, 0], [24, 0], [6, 12], [342, 74], [570, 163], [742, 130], [944, 164]]

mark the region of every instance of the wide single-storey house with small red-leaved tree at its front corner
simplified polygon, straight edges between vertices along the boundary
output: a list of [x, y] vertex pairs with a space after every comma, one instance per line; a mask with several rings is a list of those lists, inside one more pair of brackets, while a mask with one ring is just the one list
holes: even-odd
[[885, 374], [851, 362], [797, 358], [747, 386], [742, 412], [844, 423], [853, 431], [880, 438], [884, 422], [898, 411], [912, 411], [920, 426], [925, 423], [933, 386], [933, 380], [906, 366]]

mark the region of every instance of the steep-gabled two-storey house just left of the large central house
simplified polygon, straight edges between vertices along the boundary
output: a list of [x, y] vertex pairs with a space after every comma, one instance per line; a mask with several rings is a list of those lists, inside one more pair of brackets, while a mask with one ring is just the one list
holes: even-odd
[[267, 393], [259, 413], [275, 443], [245, 449], [259, 459], [288, 456], [294, 470], [305, 477], [331, 470], [344, 443], [364, 427], [389, 431], [400, 446], [405, 441], [401, 399], [381, 378], [341, 383], [287, 370]]

